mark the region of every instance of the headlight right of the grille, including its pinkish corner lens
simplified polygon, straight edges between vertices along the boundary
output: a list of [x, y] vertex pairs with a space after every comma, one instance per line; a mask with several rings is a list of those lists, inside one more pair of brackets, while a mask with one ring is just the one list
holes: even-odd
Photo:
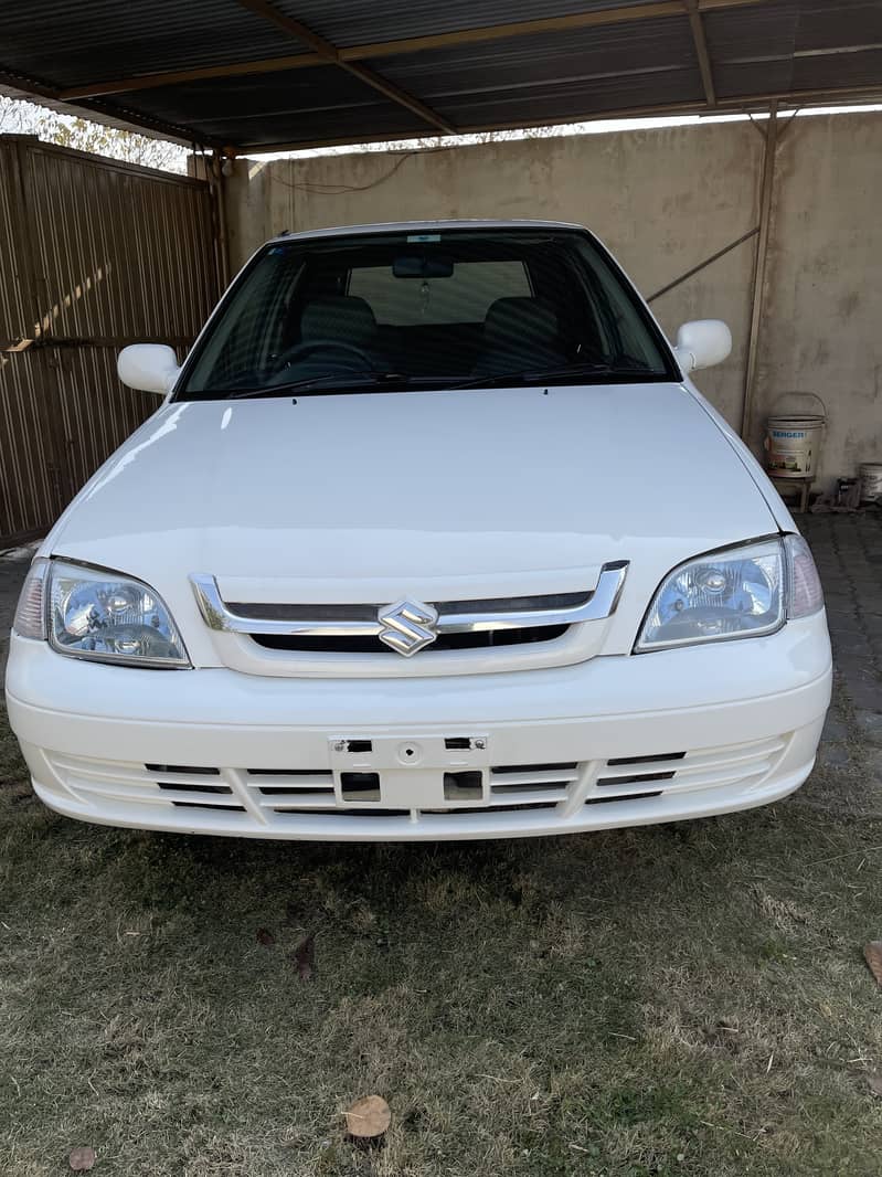
[[635, 652], [774, 633], [823, 607], [799, 536], [711, 552], [674, 568], [653, 598]]

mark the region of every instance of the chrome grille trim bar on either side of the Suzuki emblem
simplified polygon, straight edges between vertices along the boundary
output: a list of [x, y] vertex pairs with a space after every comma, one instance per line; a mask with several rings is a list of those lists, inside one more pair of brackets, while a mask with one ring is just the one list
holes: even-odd
[[[437, 601], [439, 634], [445, 633], [480, 633], [492, 630], [523, 630], [539, 626], [569, 626], [582, 621], [597, 621], [615, 612], [628, 574], [628, 561], [616, 560], [604, 564], [597, 579], [597, 586], [587, 593], [575, 605], [560, 605], [560, 597], [547, 598], [549, 607], [512, 609], [505, 600], [481, 601]], [[236, 605], [235, 609], [247, 609], [248, 613], [266, 611], [262, 617], [246, 616], [235, 612], [220, 594], [214, 576], [196, 572], [191, 576], [199, 611], [206, 625], [212, 630], [226, 633], [242, 633], [250, 637], [322, 637], [322, 638], [358, 638], [379, 637], [383, 623], [379, 619], [382, 605], [353, 605], [348, 616], [342, 616], [335, 607], [328, 612], [327, 606], [314, 606], [314, 616], [300, 616], [308, 606], [282, 605]], [[542, 600], [542, 598], [535, 598]], [[517, 603], [523, 601], [519, 598]], [[468, 606], [472, 611], [463, 612]], [[367, 611], [373, 617], [366, 617]]]

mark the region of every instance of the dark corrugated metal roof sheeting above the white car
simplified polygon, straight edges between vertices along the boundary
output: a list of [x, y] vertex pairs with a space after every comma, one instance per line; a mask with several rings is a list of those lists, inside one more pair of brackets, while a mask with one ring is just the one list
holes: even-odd
[[[687, 0], [275, 0], [274, 7], [266, 0], [31, 0], [5, 7], [0, 86], [56, 101], [92, 85], [99, 93], [80, 97], [80, 109], [214, 146], [355, 142], [434, 134], [439, 122], [474, 129], [707, 108]], [[723, 104], [882, 93], [882, 0], [699, 0], [699, 7]], [[561, 24], [486, 32], [548, 20]], [[330, 47], [322, 51], [309, 32]], [[437, 44], [439, 36], [446, 40]], [[413, 38], [432, 40], [401, 44]], [[327, 60], [334, 47], [343, 52], [336, 64]], [[301, 60], [281, 68], [279, 58]], [[139, 81], [191, 71], [201, 77]]]

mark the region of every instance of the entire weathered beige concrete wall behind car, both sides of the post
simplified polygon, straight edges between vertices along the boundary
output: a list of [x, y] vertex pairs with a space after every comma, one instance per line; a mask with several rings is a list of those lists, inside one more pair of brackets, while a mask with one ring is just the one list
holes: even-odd
[[[267, 237], [332, 225], [445, 217], [537, 217], [588, 225], [649, 295], [759, 221], [763, 138], [749, 122], [530, 139], [415, 153], [240, 160], [228, 184], [236, 267]], [[821, 484], [882, 460], [882, 118], [800, 119], [776, 157], [759, 352], [759, 447], [770, 407], [817, 392], [830, 428]], [[700, 373], [737, 428], [755, 238], [653, 304], [674, 335], [722, 318], [735, 348]]]

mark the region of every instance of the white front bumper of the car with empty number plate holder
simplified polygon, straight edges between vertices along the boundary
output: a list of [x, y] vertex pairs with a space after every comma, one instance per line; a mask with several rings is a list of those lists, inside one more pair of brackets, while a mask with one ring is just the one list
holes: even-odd
[[823, 614], [769, 638], [443, 679], [100, 666], [13, 637], [34, 789], [107, 825], [341, 842], [527, 837], [763, 805], [811, 771]]

